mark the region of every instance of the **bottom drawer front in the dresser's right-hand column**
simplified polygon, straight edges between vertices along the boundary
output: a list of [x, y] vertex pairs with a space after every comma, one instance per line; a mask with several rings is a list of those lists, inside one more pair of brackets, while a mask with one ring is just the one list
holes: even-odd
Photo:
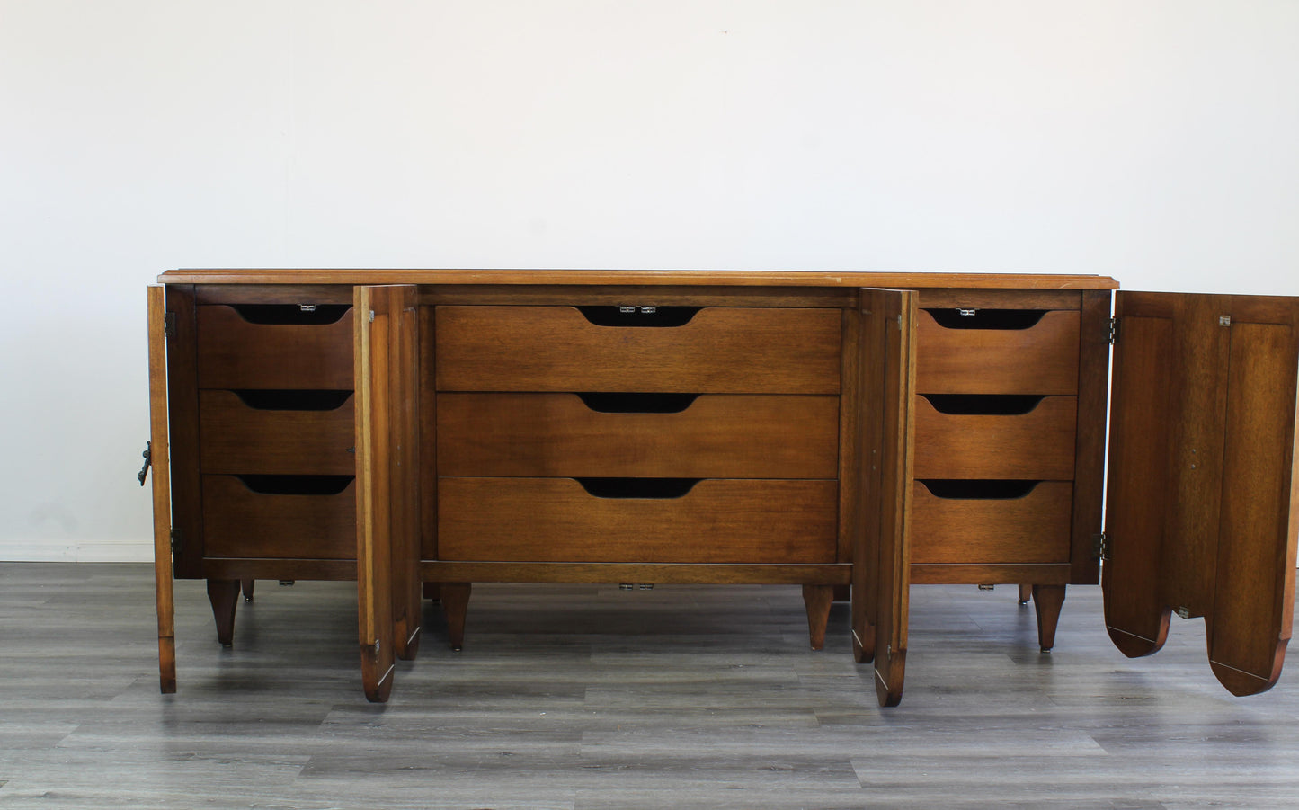
[[916, 482], [913, 563], [1066, 563], [1073, 484], [1042, 482], [1022, 497], [937, 497]]

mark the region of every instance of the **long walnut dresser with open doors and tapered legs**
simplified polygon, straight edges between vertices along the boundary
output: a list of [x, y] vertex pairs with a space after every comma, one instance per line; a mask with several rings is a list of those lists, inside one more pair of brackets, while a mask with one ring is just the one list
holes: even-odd
[[[173, 578], [357, 582], [365, 694], [475, 582], [803, 587], [881, 704], [912, 583], [1100, 580], [1129, 656], [1204, 617], [1270, 687], [1294, 604], [1299, 302], [1086, 275], [173, 270], [149, 288], [160, 671]], [[1112, 399], [1112, 405], [1111, 405]], [[1107, 418], [1109, 472], [1105, 470]], [[143, 482], [143, 474], [142, 474]], [[1102, 505], [1108, 482], [1107, 526]]]

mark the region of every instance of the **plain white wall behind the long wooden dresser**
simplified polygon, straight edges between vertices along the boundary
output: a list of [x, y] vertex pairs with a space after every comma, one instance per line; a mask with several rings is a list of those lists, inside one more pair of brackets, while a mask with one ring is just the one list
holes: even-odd
[[145, 559], [177, 266], [1299, 293], [1294, 0], [0, 0], [0, 559]]

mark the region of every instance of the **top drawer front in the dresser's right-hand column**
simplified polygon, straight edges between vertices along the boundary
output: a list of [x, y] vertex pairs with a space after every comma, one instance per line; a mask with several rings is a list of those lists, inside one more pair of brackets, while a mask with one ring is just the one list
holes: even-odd
[[1078, 313], [1050, 310], [1028, 328], [950, 328], [918, 313], [918, 393], [1078, 392]]

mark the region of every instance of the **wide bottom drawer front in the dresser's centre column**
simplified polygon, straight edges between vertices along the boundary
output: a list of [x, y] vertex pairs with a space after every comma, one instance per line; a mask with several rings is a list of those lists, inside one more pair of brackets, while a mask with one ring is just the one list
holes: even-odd
[[677, 497], [601, 497], [569, 478], [443, 478], [438, 549], [461, 561], [829, 563], [837, 506], [825, 480], [708, 479]]

